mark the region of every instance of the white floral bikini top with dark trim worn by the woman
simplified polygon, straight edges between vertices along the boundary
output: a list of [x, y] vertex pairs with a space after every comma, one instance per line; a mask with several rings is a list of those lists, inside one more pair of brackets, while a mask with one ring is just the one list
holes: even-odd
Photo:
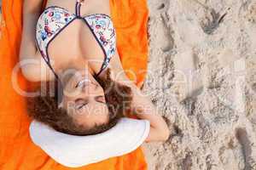
[[[101, 70], [96, 74], [100, 75], [101, 72], [108, 67], [109, 60], [116, 50], [116, 35], [113, 27], [113, 21], [107, 14], [89, 14], [86, 16], [80, 15], [81, 4], [76, 2], [75, 14], [69, 12], [66, 8], [57, 6], [50, 6], [44, 9], [44, 12], [38, 18], [36, 28], [36, 42], [38, 49], [42, 54], [49, 68], [54, 72], [49, 62], [48, 46], [54, 38], [64, 30], [73, 20], [84, 20], [84, 23], [90, 28], [96, 41], [102, 48], [105, 59], [102, 64]], [[55, 74], [55, 77], [57, 75]], [[57, 77], [58, 78], [58, 77]]]

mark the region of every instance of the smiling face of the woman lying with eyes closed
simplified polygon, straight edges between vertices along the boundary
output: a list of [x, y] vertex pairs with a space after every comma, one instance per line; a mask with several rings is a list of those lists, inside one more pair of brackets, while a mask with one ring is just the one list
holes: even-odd
[[61, 107], [79, 125], [95, 127], [108, 123], [109, 112], [103, 88], [86, 71], [77, 71], [63, 81]]

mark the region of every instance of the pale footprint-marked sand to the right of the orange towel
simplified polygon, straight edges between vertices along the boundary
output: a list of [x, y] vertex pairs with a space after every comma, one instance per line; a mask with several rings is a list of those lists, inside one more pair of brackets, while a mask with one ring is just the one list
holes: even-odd
[[148, 0], [143, 90], [172, 137], [151, 170], [256, 169], [256, 1]]

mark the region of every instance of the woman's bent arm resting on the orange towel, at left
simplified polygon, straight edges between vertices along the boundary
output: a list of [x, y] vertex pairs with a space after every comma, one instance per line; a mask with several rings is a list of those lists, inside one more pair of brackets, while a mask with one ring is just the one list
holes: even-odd
[[43, 0], [24, 0], [23, 3], [20, 67], [24, 77], [31, 82], [46, 81], [54, 77], [44, 59], [37, 54], [36, 24], [42, 4]]

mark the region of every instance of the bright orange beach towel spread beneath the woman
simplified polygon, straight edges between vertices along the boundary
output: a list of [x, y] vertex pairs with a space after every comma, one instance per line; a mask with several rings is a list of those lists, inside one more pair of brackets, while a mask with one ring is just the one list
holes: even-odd
[[[138, 86], [142, 85], [147, 68], [148, 8], [146, 0], [109, 0], [111, 17], [117, 30], [118, 51], [127, 74]], [[26, 114], [26, 100], [20, 94], [34, 83], [22, 76], [19, 62], [22, 30], [22, 0], [3, 0], [0, 27], [0, 169], [52, 170], [63, 167], [32, 143]], [[45, 4], [45, 3], [44, 3]], [[18, 68], [18, 69], [17, 69]], [[12, 76], [18, 71], [18, 76]], [[135, 74], [131, 74], [135, 73]], [[17, 91], [17, 89], [19, 89]], [[84, 170], [143, 170], [147, 169], [140, 148], [125, 156], [113, 157]]]

